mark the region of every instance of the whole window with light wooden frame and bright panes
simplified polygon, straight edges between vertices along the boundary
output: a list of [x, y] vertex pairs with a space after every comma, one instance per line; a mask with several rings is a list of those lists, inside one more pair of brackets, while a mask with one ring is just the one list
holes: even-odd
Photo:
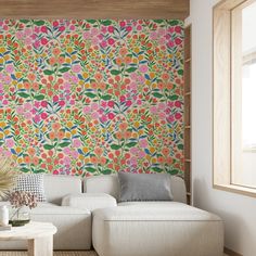
[[256, 0], [214, 8], [214, 187], [256, 195]]

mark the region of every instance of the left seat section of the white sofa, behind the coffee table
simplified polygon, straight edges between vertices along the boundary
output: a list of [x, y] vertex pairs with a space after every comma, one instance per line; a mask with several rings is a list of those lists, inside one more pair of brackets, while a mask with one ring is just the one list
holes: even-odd
[[[89, 210], [39, 203], [38, 207], [31, 210], [30, 218], [35, 221], [52, 222], [57, 228], [53, 236], [54, 249], [90, 249]], [[26, 246], [26, 243], [21, 241], [0, 243], [0, 249], [25, 249]]]

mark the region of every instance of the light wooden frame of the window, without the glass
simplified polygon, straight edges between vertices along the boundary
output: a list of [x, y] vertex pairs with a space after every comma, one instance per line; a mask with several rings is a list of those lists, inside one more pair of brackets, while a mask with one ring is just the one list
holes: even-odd
[[238, 87], [234, 81], [240, 80], [238, 76], [241, 76], [240, 71], [235, 72], [235, 68], [240, 67], [238, 62], [242, 62], [242, 53], [238, 54], [240, 59], [233, 54], [241, 49], [239, 40], [234, 43], [234, 38], [241, 36], [238, 26], [242, 25], [238, 23], [235, 15], [239, 15], [239, 12], [235, 10], [242, 10], [255, 1], [222, 0], [213, 9], [213, 188], [254, 197], [256, 188], [232, 183], [232, 137], [238, 135], [239, 129], [233, 130], [231, 120], [234, 117], [232, 98], [235, 97], [232, 94], [232, 88]]

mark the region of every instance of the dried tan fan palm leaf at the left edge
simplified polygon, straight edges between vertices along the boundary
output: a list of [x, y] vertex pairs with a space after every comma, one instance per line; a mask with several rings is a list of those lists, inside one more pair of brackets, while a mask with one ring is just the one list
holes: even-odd
[[15, 185], [15, 163], [11, 157], [0, 154], [0, 201], [4, 201], [8, 193]]

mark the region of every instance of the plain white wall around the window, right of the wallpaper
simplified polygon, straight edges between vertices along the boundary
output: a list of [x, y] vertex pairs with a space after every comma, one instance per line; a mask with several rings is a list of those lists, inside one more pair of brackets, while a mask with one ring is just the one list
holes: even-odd
[[[192, 174], [194, 205], [225, 220], [226, 246], [256, 255], [256, 199], [213, 189], [213, 5], [191, 0]], [[221, 127], [220, 127], [221, 129]]]

